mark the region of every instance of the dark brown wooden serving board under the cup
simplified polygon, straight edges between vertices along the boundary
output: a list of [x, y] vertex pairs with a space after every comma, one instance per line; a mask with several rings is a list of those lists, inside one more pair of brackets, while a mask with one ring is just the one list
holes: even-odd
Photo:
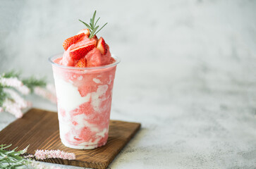
[[139, 129], [140, 123], [111, 120], [109, 139], [105, 146], [92, 150], [71, 149], [64, 146], [59, 138], [57, 113], [32, 108], [23, 118], [14, 121], [0, 132], [0, 144], [12, 144], [10, 150], [18, 146], [18, 151], [30, 145], [28, 154], [35, 154], [37, 149], [59, 149], [74, 153], [75, 160], [49, 158], [44, 161], [86, 168], [106, 168]]

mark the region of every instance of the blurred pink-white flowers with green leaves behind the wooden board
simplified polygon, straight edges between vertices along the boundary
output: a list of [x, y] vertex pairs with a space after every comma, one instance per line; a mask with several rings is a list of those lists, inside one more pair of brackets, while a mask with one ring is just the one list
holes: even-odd
[[23, 95], [30, 93], [35, 93], [56, 104], [54, 85], [47, 84], [44, 79], [36, 77], [21, 79], [20, 73], [15, 71], [3, 73], [0, 75], [0, 113], [6, 111], [16, 118], [21, 118], [23, 109], [32, 106], [30, 101], [23, 99]]

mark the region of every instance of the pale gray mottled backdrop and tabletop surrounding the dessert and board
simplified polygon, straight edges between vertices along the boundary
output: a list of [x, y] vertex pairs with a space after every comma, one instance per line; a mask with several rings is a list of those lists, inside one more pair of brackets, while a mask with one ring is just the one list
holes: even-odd
[[1, 0], [0, 71], [52, 82], [47, 58], [95, 9], [122, 59], [111, 118], [142, 123], [110, 168], [255, 168], [256, 1]]

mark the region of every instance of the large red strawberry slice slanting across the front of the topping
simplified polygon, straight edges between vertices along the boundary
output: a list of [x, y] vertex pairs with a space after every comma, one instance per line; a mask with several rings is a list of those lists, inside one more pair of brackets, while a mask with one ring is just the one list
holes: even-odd
[[95, 44], [90, 43], [84, 46], [79, 46], [75, 49], [71, 49], [69, 54], [71, 58], [75, 60], [79, 60], [80, 58], [85, 57], [85, 55], [94, 48], [95, 48]]

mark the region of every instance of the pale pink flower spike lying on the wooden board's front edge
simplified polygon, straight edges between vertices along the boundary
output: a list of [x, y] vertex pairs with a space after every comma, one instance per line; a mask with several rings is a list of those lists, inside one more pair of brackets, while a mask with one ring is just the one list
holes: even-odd
[[75, 154], [67, 153], [60, 150], [37, 150], [35, 151], [35, 158], [38, 160], [44, 160], [46, 158], [61, 158], [64, 160], [75, 160]]

